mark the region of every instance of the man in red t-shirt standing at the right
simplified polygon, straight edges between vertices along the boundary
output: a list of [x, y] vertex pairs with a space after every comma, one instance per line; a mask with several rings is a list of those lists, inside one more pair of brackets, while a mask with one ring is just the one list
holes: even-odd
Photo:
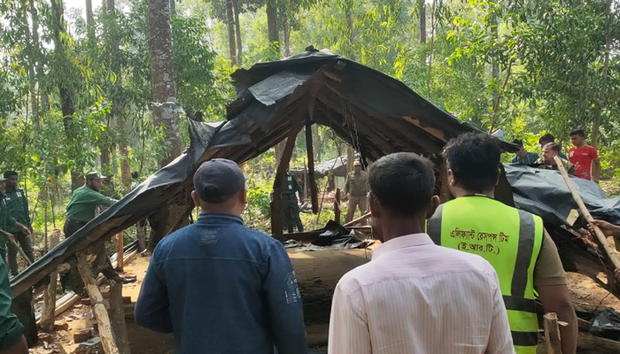
[[593, 146], [585, 144], [585, 133], [582, 129], [570, 132], [570, 141], [575, 145], [569, 150], [569, 161], [575, 165], [577, 177], [599, 182], [601, 177], [601, 160]]

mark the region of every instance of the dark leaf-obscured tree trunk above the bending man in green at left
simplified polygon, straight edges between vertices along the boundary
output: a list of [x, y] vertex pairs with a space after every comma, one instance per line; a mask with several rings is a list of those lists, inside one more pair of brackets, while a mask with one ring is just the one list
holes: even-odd
[[[51, 0], [51, 9], [55, 13], [54, 26], [52, 28], [53, 42], [56, 51], [56, 60], [60, 60], [62, 63], [69, 62], [69, 58], [66, 58], [65, 43], [62, 40], [63, 34], [66, 34], [66, 25], [64, 22], [64, 9], [62, 0]], [[62, 66], [62, 65], [58, 65]], [[60, 108], [63, 115], [63, 126], [65, 127], [65, 137], [67, 142], [74, 141], [77, 137], [76, 129], [74, 128], [74, 99], [69, 88], [66, 87], [66, 82], [60, 81], [58, 83], [58, 91], [60, 94]], [[84, 184], [84, 176], [81, 169], [81, 161], [76, 161], [74, 169], [71, 171], [71, 189], [75, 190]]]

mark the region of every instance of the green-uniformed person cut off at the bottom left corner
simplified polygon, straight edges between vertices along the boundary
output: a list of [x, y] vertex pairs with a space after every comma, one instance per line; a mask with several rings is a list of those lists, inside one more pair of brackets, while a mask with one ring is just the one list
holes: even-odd
[[[0, 176], [4, 180], [4, 177]], [[11, 312], [11, 287], [9, 272], [0, 261], [0, 353], [27, 354], [28, 347], [24, 338], [24, 327]]]

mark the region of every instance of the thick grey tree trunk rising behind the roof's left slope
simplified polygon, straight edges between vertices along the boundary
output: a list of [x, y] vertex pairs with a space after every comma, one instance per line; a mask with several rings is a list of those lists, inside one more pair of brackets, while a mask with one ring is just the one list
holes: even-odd
[[151, 84], [155, 103], [153, 119], [158, 127], [166, 129], [166, 144], [169, 148], [167, 156], [159, 161], [159, 165], [164, 166], [182, 153], [179, 117], [172, 106], [176, 104], [176, 87], [172, 64], [170, 3], [168, 0], [148, 0], [147, 3], [151, 37]]

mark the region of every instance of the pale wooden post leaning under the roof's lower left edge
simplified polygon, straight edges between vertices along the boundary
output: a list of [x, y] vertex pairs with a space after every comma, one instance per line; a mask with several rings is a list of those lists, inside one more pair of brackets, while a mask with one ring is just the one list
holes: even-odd
[[97, 287], [97, 281], [92, 269], [90, 269], [89, 263], [86, 261], [86, 255], [82, 252], [78, 252], [75, 257], [77, 258], [77, 268], [80, 271], [81, 280], [84, 281], [86, 291], [89, 293], [90, 303], [92, 304], [97, 318], [97, 325], [99, 327], [99, 335], [101, 335], [101, 342], [104, 346], [105, 354], [120, 354], [119, 348], [114, 342], [114, 336], [112, 335], [112, 325], [110, 323], [110, 317], [105, 309], [104, 296], [101, 295], [101, 291]]

